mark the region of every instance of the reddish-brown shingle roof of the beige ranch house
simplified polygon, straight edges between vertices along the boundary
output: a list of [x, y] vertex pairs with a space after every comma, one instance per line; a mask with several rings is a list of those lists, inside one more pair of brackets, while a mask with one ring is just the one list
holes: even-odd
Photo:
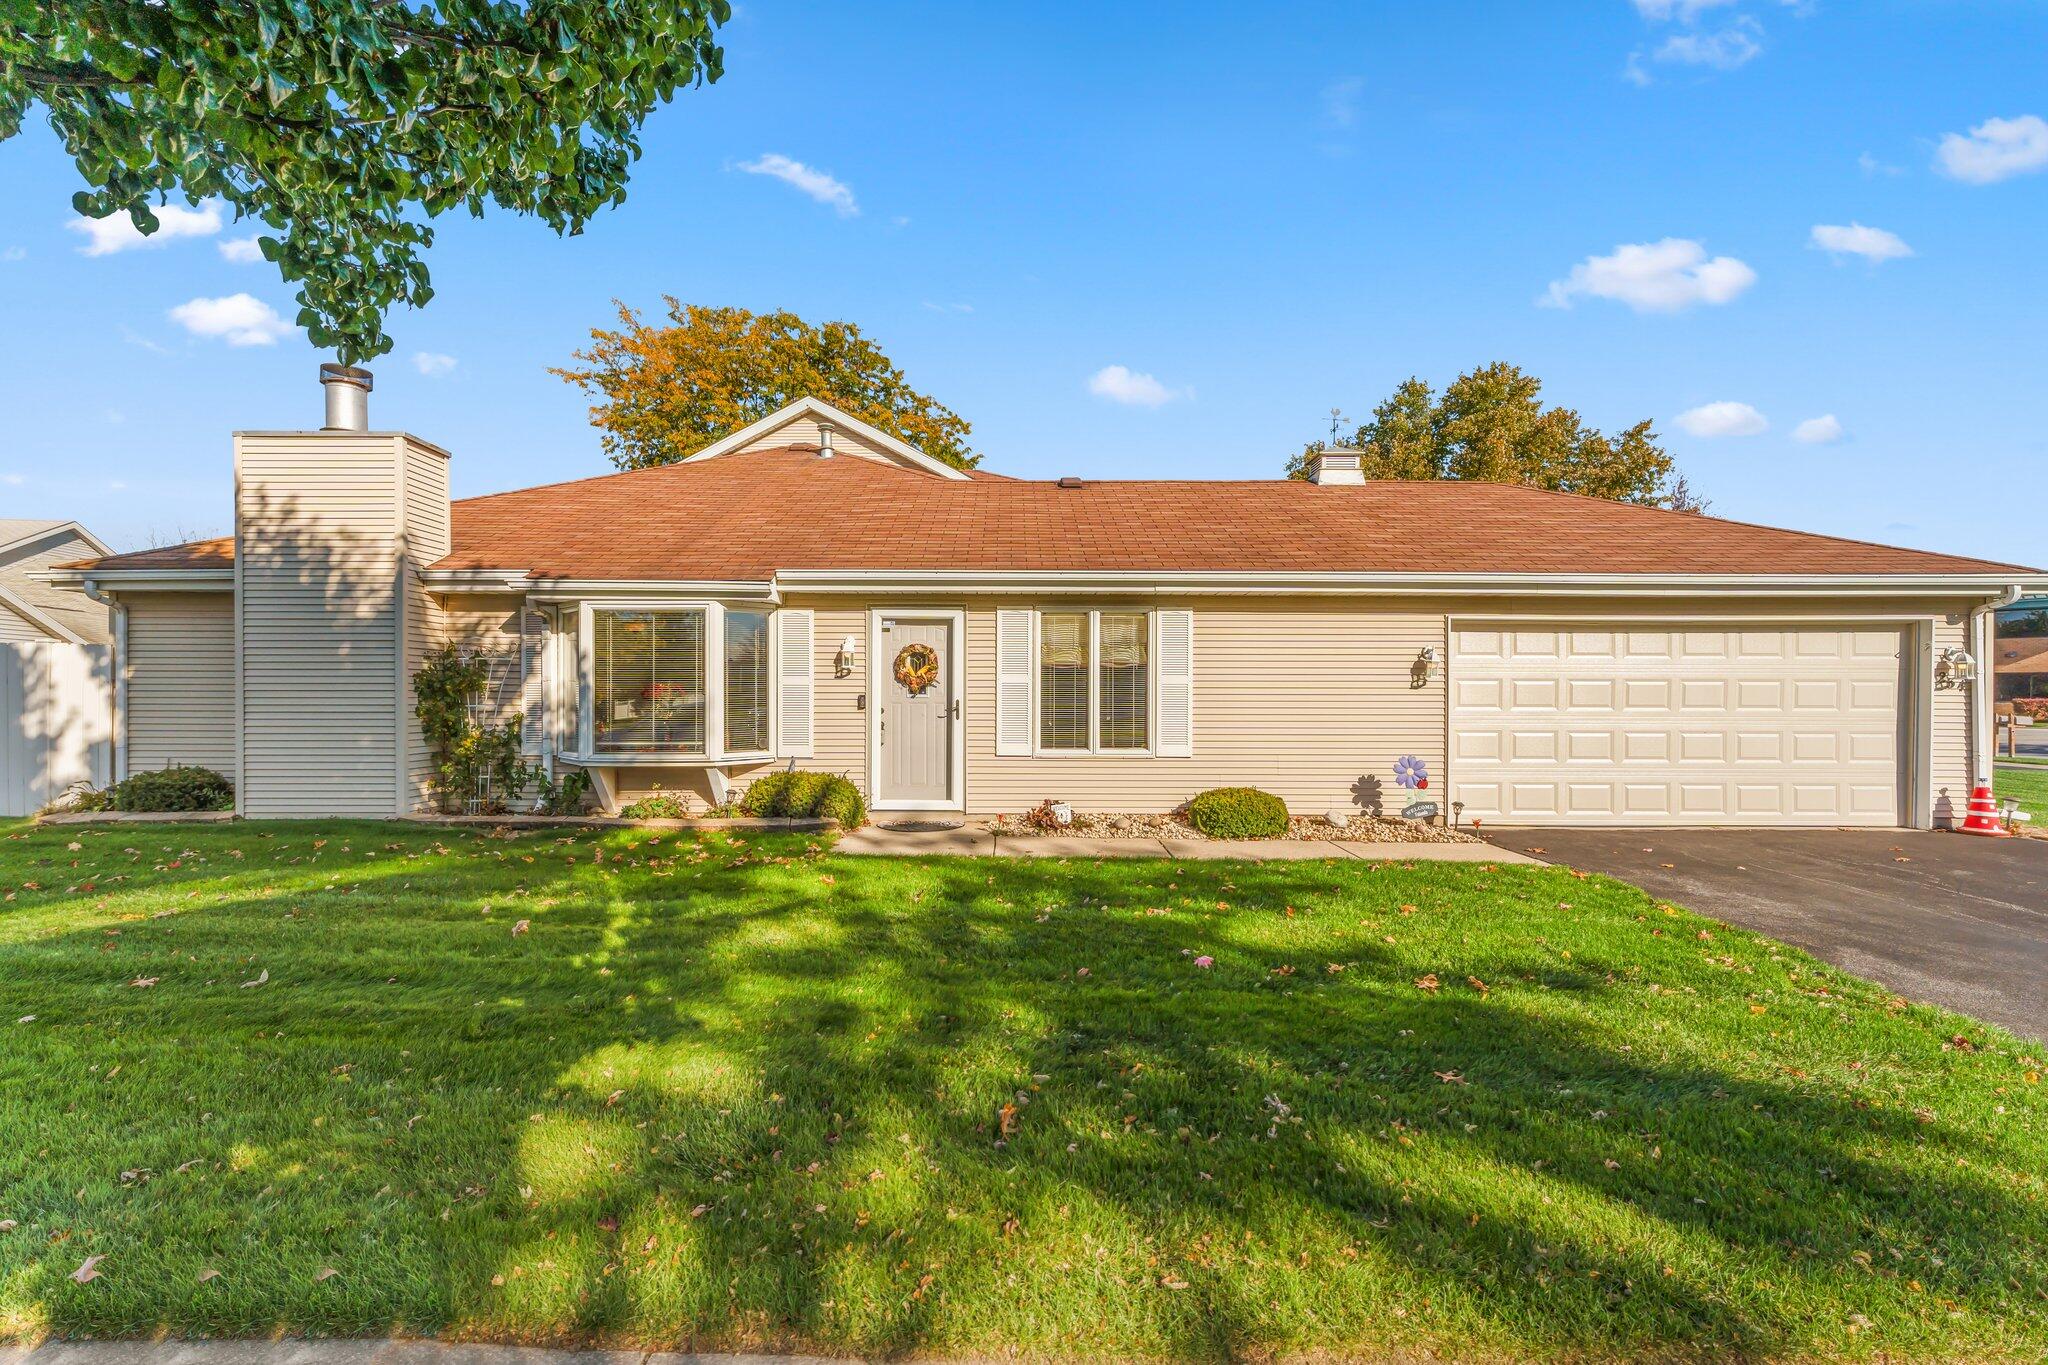
[[[225, 563], [231, 542], [184, 546]], [[162, 567], [143, 551], [106, 567]], [[143, 561], [150, 563], [143, 563]], [[1214, 573], [2034, 573], [1501, 483], [952, 481], [805, 448], [455, 503], [436, 569], [768, 579], [788, 569]]]

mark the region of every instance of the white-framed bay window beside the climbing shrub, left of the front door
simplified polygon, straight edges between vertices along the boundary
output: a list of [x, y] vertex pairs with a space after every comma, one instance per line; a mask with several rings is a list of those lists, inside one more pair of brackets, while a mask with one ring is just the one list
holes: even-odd
[[590, 757], [768, 757], [772, 616], [762, 608], [584, 608]]

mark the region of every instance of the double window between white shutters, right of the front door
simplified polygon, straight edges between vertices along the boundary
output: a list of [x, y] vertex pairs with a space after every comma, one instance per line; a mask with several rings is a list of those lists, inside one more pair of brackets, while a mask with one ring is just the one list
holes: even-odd
[[1038, 749], [1143, 753], [1151, 745], [1145, 612], [1038, 614]]

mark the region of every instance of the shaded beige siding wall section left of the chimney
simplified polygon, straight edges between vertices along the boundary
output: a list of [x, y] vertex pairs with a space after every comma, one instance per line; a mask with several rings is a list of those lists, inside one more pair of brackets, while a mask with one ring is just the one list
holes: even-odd
[[127, 769], [236, 772], [236, 600], [150, 591], [127, 598]]

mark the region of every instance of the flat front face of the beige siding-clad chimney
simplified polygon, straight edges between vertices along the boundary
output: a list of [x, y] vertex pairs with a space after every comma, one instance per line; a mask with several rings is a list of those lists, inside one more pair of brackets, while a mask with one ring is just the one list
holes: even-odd
[[242, 812], [393, 814], [399, 442], [236, 440]]

